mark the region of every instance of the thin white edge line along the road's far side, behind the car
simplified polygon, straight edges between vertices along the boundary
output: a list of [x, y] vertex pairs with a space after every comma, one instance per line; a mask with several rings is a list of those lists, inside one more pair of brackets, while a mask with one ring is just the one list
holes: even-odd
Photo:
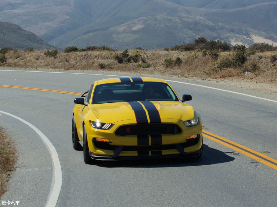
[[[34, 72], [34, 73], [64, 73], [64, 74], [80, 74], [80, 75], [100, 75], [100, 76], [113, 76], [113, 77], [130, 77], [130, 76], [123, 76], [123, 75], [103, 75], [103, 74], [92, 74], [92, 73], [67, 73], [67, 72], [47, 72], [47, 71], [14, 71], [14, 70], [0, 70], [0, 71]], [[180, 81], [171, 81], [171, 80], [165, 80], [165, 81], [170, 81], [170, 82], [175, 82], [175, 83], [182, 83], [182, 84], [187, 84], [187, 85], [200, 86], [200, 87], [203, 87], [203, 88], [210, 88], [210, 89], [214, 89], [214, 90], [218, 90], [218, 91], [225, 91], [225, 92], [229, 92], [229, 93], [235, 93], [235, 94], [239, 94], [239, 95], [244, 95], [244, 96], [248, 96], [248, 97], [252, 97], [252, 98], [258, 98], [258, 99], [262, 99], [262, 100], [265, 100], [265, 101], [271, 101], [271, 102], [277, 103], [277, 101], [274, 101], [274, 100], [271, 100], [271, 99], [261, 98], [261, 97], [258, 97], [258, 96], [248, 95], [248, 94], [239, 93], [239, 92], [235, 92], [235, 91], [228, 91], [228, 90], [223, 90], [223, 89], [219, 89], [219, 88], [213, 88], [213, 87], [209, 87], [209, 86], [192, 84], [192, 83], [186, 83], [186, 82], [180, 82]]]

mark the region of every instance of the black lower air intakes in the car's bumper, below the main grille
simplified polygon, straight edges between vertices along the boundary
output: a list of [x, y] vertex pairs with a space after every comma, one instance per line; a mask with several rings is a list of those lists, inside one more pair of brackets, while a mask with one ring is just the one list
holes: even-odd
[[[184, 143], [181, 143], [181, 146], [183, 148], [191, 147], [193, 145], [196, 145], [199, 141], [199, 137], [195, 139], [189, 139]], [[98, 149], [103, 150], [115, 150], [117, 146], [110, 145], [107, 142], [97, 142], [93, 141], [94, 145]], [[167, 145], [145, 145], [145, 146], [124, 146], [122, 151], [155, 151], [155, 150], [174, 150], [177, 149], [175, 144], [167, 144]]]

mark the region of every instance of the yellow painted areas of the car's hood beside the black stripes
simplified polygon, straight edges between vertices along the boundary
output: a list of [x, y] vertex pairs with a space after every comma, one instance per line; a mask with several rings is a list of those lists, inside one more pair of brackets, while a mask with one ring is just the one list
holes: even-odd
[[[186, 121], [193, 118], [192, 106], [182, 102], [151, 101], [159, 112], [160, 118], [179, 119]], [[143, 102], [139, 102], [142, 103]], [[144, 105], [143, 105], [144, 106]], [[135, 111], [128, 102], [95, 104], [90, 107], [97, 119], [103, 123], [114, 123], [129, 119], [136, 119]], [[143, 107], [142, 110], [146, 111]], [[156, 110], [155, 109], [155, 110]], [[150, 114], [150, 116], [149, 116]], [[153, 113], [146, 113], [147, 118]]]

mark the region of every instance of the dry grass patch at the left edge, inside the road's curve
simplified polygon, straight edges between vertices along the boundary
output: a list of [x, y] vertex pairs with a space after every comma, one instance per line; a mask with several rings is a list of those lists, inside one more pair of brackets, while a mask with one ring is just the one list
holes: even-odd
[[0, 129], [0, 198], [5, 193], [5, 185], [16, 162], [16, 150], [8, 136]]

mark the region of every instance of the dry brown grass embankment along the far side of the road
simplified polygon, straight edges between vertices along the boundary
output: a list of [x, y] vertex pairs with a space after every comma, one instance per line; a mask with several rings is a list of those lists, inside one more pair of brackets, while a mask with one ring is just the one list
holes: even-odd
[[[119, 52], [120, 53], [120, 52]], [[218, 70], [214, 67], [216, 60], [210, 55], [203, 56], [201, 52], [178, 52], [164, 50], [130, 50], [130, 55], [135, 53], [145, 57], [151, 63], [150, 68], [141, 68], [137, 63], [118, 64], [113, 60], [115, 52], [111, 51], [89, 51], [89, 52], [60, 52], [56, 59], [46, 57], [44, 51], [24, 52], [10, 51], [6, 54], [7, 62], [0, 64], [0, 67], [14, 68], [49, 68], [59, 70], [100, 70], [99, 64], [103, 63], [107, 71], [124, 71], [124, 72], [143, 72], [146, 74], [164, 74], [175, 76], [189, 76], [198, 78], [236, 78], [249, 79], [256, 82], [276, 82], [277, 67], [270, 62], [272, 54], [277, 52], [256, 53], [248, 57], [246, 63], [242, 67], [228, 68]], [[219, 60], [224, 57], [231, 57], [232, 52], [221, 52]], [[263, 58], [259, 60], [259, 56]], [[178, 66], [165, 67], [164, 60], [167, 58], [175, 59], [180, 57], [182, 64]], [[250, 75], [244, 75], [245, 71], [249, 71], [251, 64], [257, 63], [260, 69], [253, 71]], [[264, 72], [265, 71], [265, 72]]]

